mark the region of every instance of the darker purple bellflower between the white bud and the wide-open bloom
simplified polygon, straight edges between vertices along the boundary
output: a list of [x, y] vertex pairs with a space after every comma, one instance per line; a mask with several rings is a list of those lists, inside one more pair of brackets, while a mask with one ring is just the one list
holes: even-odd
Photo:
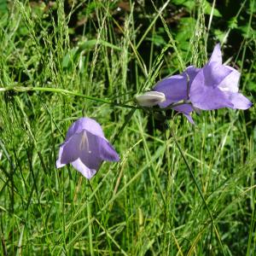
[[[153, 90], [160, 91], [166, 95], [166, 102], [161, 102], [159, 104], [160, 108], [167, 108], [172, 103], [188, 101], [190, 86], [199, 71], [200, 68], [190, 66], [181, 74], [160, 80], [160, 82], [158, 82], [153, 88]], [[173, 107], [173, 109], [177, 112], [183, 113], [187, 119], [189, 119], [189, 122], [194, 124], [194, 121], [190, 116], [190, 113], [194, 109], [190, 104], [184, 103], [183, 105]]]

